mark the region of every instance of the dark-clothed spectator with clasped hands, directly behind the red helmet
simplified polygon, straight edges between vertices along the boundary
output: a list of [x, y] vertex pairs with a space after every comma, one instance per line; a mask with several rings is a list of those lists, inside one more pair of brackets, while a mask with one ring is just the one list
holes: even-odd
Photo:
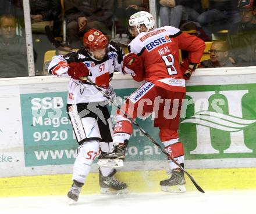
[[111, 35], [113, 0], [65, 0], [67, 41], [71, 48], [83, 46], [81, 37], [91, 28]]

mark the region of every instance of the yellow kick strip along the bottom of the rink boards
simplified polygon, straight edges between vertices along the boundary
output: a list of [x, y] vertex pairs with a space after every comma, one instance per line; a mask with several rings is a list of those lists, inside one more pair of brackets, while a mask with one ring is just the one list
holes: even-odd
[[[190, 169], [195, 181], [205, 190], [256, 189], [256, 168]], [[118, 172], [116, 177], [129, 186], [130, 192], [160, 191], [159, 181], [168, 178], [165, 171]], [[72, 175], [1, 177], [0, 197], [66, 195]], [[187, 191], [196, 191], [186, 177]], [[81, 194], [98, 194], [98, 173], [90, 173]]]

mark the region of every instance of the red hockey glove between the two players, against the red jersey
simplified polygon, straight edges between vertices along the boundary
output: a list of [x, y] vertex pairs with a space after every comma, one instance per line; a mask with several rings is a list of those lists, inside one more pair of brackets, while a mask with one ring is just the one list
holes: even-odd
[[125, 67], [129, 68], [131, 71], [133, 71], [136, 74], [137, 72], [140, 72], [141, 69], [143, 69], [143, 61], [135, 53], [128, 53], [125, 56], [125, 59], [123, 59], [123, 72], [125, 74], [127, 73], [131, 74], [130, 71], [127, 72]]

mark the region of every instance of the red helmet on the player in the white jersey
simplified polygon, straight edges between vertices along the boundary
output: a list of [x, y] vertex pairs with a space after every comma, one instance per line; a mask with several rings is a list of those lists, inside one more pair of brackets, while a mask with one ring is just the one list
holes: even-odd
[[89, 49], [103, 49], [108, 45], [108, 38], [101, 31], [91, 29], [84, 34], [84, 47]]

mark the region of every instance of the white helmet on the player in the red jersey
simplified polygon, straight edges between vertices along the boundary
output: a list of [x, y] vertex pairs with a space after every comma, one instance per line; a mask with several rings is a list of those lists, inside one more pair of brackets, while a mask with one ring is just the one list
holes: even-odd
[[138, 33], [140, 33], [141, 24], [145, 24], [148, 32], [151, 28], [154, 28], [155, 26], [154, 17], [146, 11], [134, 13], [129, 19], [129, 26], [136, 26]]

